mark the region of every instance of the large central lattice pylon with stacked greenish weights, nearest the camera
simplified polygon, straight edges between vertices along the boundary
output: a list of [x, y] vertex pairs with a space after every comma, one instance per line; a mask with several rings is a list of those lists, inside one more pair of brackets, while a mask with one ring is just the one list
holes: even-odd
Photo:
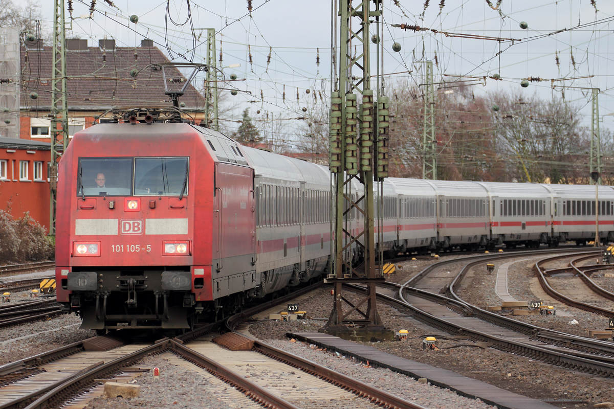
[[[377, 312], [376, 283], [384, 278], [381, 269], [376, 270], [374, 177], [378, 181], [387, 177], [388, 101], [379, 97], [378, 117], [375, 117], [369, 52], [370, 20], [379, 20], [381, 1], [355, 3], [356, 7], [352, 6], [352, 0], [339, 3], [340, 47], [336, 59], [339, 78], [333, 84], [330, 117], [330, 170], [335, 189], [332, 268], [326, 280], [334, 283], [335, 299], [327, 331], [343, 331], [345, 324], [352, 323], [367, 331], [379, 331], [381, 337], [381, 332], [386, 330]], [[371, 10], [372, 5], [375, 10]], [[336, 15], [333, 7], [333, 16]], [[378, 37], [375, 36], [374, 42], [379, 48]], [[333, 71], [334, 61], [335, 58]], [[341, 294], [343, 283], [366, 285], [366, 296], [358, 304], [351, 304]], [[350, 307], [347, 312], [343, 311], [344, 303]], [[366, 304], [365, 312], [360, 309], [363, 304]], [[362, 319], [349, 319], [352, 313], [358, 313]], [[356, 328], [351, 331], [356, 332]]]

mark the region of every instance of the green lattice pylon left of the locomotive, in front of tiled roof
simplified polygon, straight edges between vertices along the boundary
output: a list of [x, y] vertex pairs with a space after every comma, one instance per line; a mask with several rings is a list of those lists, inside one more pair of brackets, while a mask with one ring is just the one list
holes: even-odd
[[55, 235], [55, 210], [58, 189], [58, 162], [68, 146], [68, 102], [66, 101], [66, 36], [64, 1], [53, 1], [53, 62], [51, 80], [51, 161], [49, 166], [49, 235]]

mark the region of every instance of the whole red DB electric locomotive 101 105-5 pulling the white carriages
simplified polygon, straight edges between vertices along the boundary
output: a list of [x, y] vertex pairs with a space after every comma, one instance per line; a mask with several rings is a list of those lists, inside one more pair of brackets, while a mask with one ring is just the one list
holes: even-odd
[[[77, 132], [60, 161], [57, 300], [84, 328], [188, 328], [200, 313], [238, 310], [260, 284], [241, 147], [156, 115]], [[232, 160], [218, 159], [214, 134]]]

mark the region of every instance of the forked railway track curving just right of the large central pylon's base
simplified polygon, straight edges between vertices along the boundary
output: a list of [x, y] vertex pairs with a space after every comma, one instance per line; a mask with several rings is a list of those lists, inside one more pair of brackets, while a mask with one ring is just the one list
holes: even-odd
[[[378, 296], [396, 308], [408, 311], [414, 319], [448, 334], [467, 337], [474, 341], [490, 342], [492, 347], [499, 350], [572, 370], [614, 377], [612, 343], [525, 324], [469, 305], [457, 296], [456, 291], [462, 278], [472, 267], [493, 259], [518, 256], [518, 254], [505, 253], [499, 257], [470, 256], [442, 261], [422, 270], [403, 285], [395, 283], [378, 285]], [[453, 280], [448, 280], [448, 283], [439, 288], [448, 296], [438, 294], [432, 283], [427, 283], [428, 280], [425, 278], [438, 267], [458, 262], [464, 262], [464, 267]], [[416, 288], [418, 285], [429, 288], [429, 291]], [[353, 287], [362, 291], [360, 287]]]

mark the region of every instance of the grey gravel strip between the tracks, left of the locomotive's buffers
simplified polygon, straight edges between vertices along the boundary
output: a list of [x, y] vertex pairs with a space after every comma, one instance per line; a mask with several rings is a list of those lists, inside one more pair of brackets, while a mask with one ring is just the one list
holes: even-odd
[[94, 331], [79, 329], [80, 324], [78, 316], [64, 314], [1, 328], [0, 365], [95, 337]]

